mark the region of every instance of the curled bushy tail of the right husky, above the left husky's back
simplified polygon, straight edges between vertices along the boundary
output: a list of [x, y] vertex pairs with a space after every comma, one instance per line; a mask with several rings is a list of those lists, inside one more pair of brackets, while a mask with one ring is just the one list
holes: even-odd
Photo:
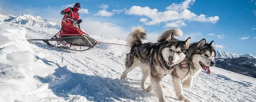
[[183, 32], [178, 28], [169, 28], [162, 32], [160, 36], [158, 36], [158, 42], [165, 42], [169, 39], [175, 39], [174, 36], [183, 36]]

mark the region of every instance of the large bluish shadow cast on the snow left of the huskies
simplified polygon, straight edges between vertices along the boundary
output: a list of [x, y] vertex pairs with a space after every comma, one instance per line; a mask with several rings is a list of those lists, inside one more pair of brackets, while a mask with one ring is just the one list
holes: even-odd
[[[46, 64], [54, 63], [46, 59], [42, 59]], [[67, 98], [68, 95], [81, 95], [90, 101], [107, 101], [115, 99], [121, 101], [120, 98], [135, 100], [152, 96], [147, 91], [141, 90], [139, 87], [131, 87], [131, 82], [127, 80], [103, 78], [101, 76], [86, 75], [81, 73], [73, 73], [67, 69], [67, 66], [58, 66], [55, 73], [49, 74], [47, 77], [37, 76], [42, 83], [49, 83], [55, 95]], [[139, 85], [139, 80], [137, 83]]]

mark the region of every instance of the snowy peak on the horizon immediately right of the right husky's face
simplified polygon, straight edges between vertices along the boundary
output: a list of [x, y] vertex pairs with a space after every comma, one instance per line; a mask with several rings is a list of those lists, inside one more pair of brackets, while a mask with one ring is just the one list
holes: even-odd
[[216, 58], [237, 58], [239, 57], [237, 54], [232, 54], [229, 52], [218, 50], [216, 51]]

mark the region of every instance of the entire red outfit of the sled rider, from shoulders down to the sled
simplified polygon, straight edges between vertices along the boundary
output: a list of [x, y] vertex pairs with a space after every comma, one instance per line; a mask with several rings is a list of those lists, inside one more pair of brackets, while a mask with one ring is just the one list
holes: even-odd
[[[68, 7], [67, 9], [63, 10], [64, 12], [68, 12], [68, 11], [71, 11], [71, 13], [69, 14], [70, 17], [72, 18], [77, 18], [75, 19], [76, 21], [79, 20], [79, 13], [77, 12], [78, 9], [75, 8], [75, 7]], [[73, 25], [73, 21], [68, 19], [66, 22], [64, 21], [65, 18], [69, 18], [68, 16], [64, 16], [62, 18], [62, 21], [61, 21], [61, 26], [63, 28], [62, 30], [62, 33], [61, 34], [81, 34], [82, 31], [78, 28], [76, 28], [74, 25]], [[65, 22], [65, 23], [64, 23]]]

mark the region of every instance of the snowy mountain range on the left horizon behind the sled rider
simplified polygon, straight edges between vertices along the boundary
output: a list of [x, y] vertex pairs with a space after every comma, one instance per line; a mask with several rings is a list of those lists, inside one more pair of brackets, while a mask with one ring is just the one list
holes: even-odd
[[0, 14], [0, 21], [12, 22], [17, 24], [29, 25], [29, 26], [40, 26], [44, 28], [61, 29], [60, 25], [56, 22], [49, 22], [40, 16], [34, 17], [32, 15], [2, 15]]

